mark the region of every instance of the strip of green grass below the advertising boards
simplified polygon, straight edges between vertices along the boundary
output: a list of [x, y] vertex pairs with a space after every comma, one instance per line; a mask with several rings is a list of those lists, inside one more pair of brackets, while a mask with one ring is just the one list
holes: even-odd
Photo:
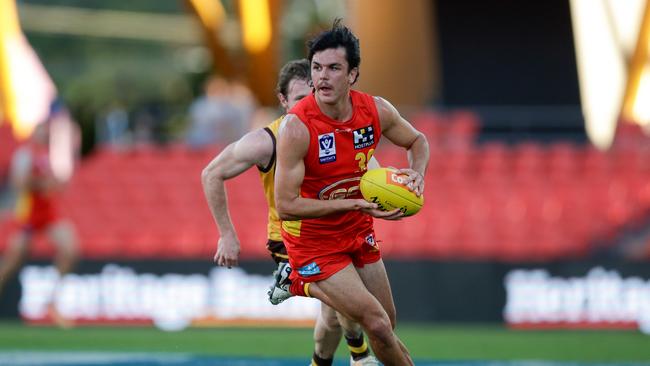
[[[650, 336], [636, 331], [513, 331], [499, 326], [403, 325], [416, 359], [650, 361]], [[82, 327], [61, 330], [0, 323], [0, 350], [183, 352], [221, 356], [305, 357], [310, 329]], [[345, 357], [341, 343], [338, 355]]]

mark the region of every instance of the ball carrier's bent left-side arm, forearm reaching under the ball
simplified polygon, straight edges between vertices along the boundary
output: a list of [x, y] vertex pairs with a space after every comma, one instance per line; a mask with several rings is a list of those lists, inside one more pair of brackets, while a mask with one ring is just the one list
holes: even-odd
[[275, 205], [282, 220], [322, 217], [334, 213], [374, 209], [362, 199], [317, 200], [300, 196], [305, 178], [303, 161], [309, 148], [309, 131], [295, 115], [287, 115], [278, 138], [275, 168]]

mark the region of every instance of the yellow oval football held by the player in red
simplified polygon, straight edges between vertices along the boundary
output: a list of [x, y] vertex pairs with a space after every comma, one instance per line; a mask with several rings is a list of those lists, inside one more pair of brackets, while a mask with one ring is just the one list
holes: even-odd
[[399, 208], [404, 216], [418, 213], [424, 204], [424, 196], [416, 196], [404, 184], [406, 175], [393, 168], [368, 170], [362, 177], [359, 188], [363, 198], [379, 205], [385, 211]]

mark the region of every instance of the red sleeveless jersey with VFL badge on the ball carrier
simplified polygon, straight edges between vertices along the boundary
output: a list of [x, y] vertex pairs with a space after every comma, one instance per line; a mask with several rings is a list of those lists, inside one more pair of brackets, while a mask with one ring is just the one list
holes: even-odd
[[[359, 182], [379, 144], [381, 126], [371, 95], [351, 90], [350, 97], [352, 117], [345, 122], [323, 114], [313, 94], [291, 110], [309, 130], [305, 176], [300, 187], [302, 197], [320, 200], [363, 198]], [[285, 233], [303, 238], [343, 236], [371, 228], [372, 217], [361, 211], [282, 222]]]

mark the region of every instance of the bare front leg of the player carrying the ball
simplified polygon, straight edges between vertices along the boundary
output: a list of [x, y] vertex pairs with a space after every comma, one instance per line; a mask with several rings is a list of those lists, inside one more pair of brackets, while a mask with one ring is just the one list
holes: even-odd
[[361, 324], [377, 358], [384, 365], [412, 365], [393, 333], [388, 314], [364, 286], [352, 264], [317, 282], [316, 286], [310, 285], [309, 292], [342, 315]]

